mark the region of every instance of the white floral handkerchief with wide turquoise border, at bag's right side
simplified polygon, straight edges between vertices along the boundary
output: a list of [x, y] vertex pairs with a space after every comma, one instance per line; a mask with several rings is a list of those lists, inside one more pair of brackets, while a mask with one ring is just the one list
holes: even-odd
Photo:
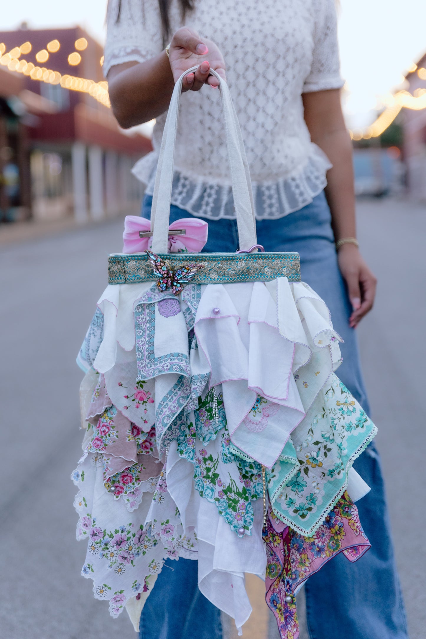
[[269, 490], [275, 516], [305, 536], [316, 532], [344, 493], [349, 468], [377, 432], [335, 374], [322, 394], [310, 417], [310, 443], [300, 441], [297, 427], [291, 435], [296, 451], [304, 449], [297, 460], [296, 473], [284, 482], [288, 465], [280, 462], [280, 468], [271, 469], [275, 477], [271, 477]]

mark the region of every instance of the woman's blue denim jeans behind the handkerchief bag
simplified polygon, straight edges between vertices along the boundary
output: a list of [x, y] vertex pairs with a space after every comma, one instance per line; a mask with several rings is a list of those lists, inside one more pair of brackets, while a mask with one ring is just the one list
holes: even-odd
[[[148, 219], [151, 204], [152, 197], [146, 196], [142, 216]], [[182, 217], [193, 216], [171, 206], [170, 222]], [[236, 220], [211, 220], [208, 224], [205, 252], [232, 253], [238, 250]], [[337, 369], [337, 376], [369, 413], [356, 331], [349, 327], [351, 303], [337, 263], [330, 208], [324, 192], [299, 211], [278, 220], [257, 221], [256, 231], [257, 242], [265, 250], [292, 250], [300, 254], [302, 281], [323, 298], [330, 309], [333, 327], [344, 339], [344, 343], [340, 344], [343, 363]], [[339, 555], [309, 578], [305, 592], [310, 639], [333, 637], [336, 631], [340, 634], [343, 631], [345, 639], [407, 639], [407, 622], [393, 555], [381, 465], [374, 443], [355, 460], [354, 468], [372, 488], [356, 504], [372, 548], [355, 564]], [[148, 605], [142, 612], [141, 639], [166, 639], [169, 636], [176, 639], [192, 639], [193, 636], [197, 639], [220, 639], [220, 614], [195, 587], [195, 562], [179, 560], [177, 563], [178, 566], [172, 562], [173, 572], [164, 569], [158, 577]], [[184, 583], [187, 592], [183, 597], [185, 601], [182, 601]], [[179, 601], [174, 610], [166, 606], [165, 615], [158, 614], [164, 600], [173, 602], [176, 596]], [[204, 623], [200, 623], [200, 619]]]

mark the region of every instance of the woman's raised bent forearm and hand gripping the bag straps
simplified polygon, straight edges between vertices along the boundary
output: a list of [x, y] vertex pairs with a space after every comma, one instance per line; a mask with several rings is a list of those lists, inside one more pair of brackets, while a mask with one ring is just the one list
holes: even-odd
[[225, 79], [224, 59], [215, 43], [203, 41], [195, 31], [181, 27], [172, 37], [169, 58], [162, 51], [146, 62], [112, 66], [108, 73], [109, 99], [119, 125], [133, 127], [167, 111], [174, 83], [195, 65], [199, 68], [186, 75], [182, 91], [198, 91], [203, 84], [216, 87], [218, 81], [209, 76], [210, 68]]

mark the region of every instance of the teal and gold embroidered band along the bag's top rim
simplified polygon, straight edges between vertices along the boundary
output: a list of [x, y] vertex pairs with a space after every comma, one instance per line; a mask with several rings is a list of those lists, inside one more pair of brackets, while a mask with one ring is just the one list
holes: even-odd
[[[231, 284], [232, 282], [268, 282], [287, 277], [300, 282], [298, 253], [167, 253], [160, 258], [176, 270], [190, 262], [202, 262], [193, 284]], [[109, 284], [139, 284], [153, 282], [152, 267], [145, 253], [114, 253], [108, 258]]]

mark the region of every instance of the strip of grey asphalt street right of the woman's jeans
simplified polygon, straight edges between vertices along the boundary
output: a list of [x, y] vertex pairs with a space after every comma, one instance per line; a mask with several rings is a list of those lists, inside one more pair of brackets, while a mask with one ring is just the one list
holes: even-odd
[[365, 381], [411, 639], [424, 639], [426, 207], [385, 200], [360, 206], [359, 237], [379, 278], [376, 306], [359, 328]]

